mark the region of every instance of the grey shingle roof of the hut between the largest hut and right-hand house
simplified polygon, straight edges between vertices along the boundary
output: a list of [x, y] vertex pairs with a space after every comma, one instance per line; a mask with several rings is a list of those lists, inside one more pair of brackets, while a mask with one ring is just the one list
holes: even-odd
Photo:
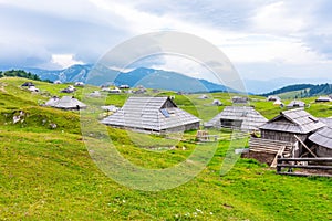
[[220, 126], [220, 119], [242, 120], [241, 129], [258, 129], [259, 126], [268, 122], [260, 113], [250, 106], [227, 106], [216, 115], [206, 126]]

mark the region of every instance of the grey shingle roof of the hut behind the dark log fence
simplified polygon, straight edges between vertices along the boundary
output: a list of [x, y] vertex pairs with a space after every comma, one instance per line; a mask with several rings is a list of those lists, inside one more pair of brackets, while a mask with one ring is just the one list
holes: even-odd
[[279, 116], [269, 120], [260, 129], [308, 134], [325, 126], [318, 118], [301, 108], [281, 112]]

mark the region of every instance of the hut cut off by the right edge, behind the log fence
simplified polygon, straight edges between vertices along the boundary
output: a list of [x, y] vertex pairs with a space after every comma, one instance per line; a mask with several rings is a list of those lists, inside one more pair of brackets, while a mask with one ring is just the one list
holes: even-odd
[[308, 138], [318, 157], [332, 157], [332, 128], [324, 127]]

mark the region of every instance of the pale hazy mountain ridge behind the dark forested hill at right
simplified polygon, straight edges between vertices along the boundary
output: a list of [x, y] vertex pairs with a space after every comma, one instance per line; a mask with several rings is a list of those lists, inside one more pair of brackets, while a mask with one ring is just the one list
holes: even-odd
[[245, 86], [248, 92], [253, 94], [268, 93], [283, 86], [294, 85], [294, 84], [324, 84], [332, 83], [331, 78], [290, 78], [280, 77], [268, 81], [260, 80], [243, 80]]

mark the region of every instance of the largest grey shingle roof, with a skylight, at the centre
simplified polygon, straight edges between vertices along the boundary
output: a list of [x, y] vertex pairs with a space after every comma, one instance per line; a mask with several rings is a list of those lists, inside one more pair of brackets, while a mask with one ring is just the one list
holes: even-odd
[[177, 108], [168, 97], [129, 97], [115, 114], [102, 120], [103, 124], [137, 129], [165, 130], [200, 119]]

